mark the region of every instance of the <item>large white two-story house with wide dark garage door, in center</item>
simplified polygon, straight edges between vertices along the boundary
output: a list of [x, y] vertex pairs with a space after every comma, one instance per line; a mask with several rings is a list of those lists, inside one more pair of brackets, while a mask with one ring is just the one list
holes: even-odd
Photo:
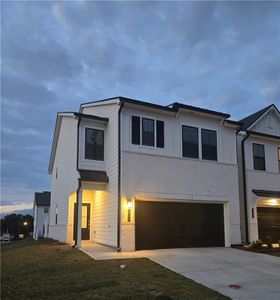
[[229, 117], [124, 97], [58, 113], [49, 236], [119, 251], [239, 244], [240, 124]]

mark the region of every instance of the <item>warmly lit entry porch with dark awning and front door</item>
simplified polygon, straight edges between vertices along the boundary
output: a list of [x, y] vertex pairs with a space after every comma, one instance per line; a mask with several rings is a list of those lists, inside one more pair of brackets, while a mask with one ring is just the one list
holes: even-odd
[[[102, 240], [108, 227], [106, 173], [80, 170], [80, 175], [78, 190], [68, 200], [67, 242], [76, 247], [81, 247], [82, 241]], [[110, 231], [110, 227], [107, 229]]]

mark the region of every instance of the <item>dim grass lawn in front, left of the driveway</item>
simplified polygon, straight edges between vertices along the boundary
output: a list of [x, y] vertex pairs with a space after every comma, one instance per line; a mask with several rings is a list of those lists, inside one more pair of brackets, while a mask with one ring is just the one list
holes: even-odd
[[1, 299], [229, 299], [149, 259], [96, 261], [52, 240], [5, 244], [1, 260]]

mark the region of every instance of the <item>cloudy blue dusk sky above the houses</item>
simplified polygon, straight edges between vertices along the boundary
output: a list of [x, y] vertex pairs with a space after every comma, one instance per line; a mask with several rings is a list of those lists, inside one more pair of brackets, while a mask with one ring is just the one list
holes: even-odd
[[280, 107], [280, 2], [1, 2], [2, 212], [50, 189], [56, 113], [113, 96]]

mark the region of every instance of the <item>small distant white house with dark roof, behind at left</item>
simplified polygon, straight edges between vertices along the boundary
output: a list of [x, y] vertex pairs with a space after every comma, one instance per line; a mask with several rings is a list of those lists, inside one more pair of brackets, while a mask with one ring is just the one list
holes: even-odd
[[33, 205], [33, 238], [48, 237], [51, 192], [35, 193]]

